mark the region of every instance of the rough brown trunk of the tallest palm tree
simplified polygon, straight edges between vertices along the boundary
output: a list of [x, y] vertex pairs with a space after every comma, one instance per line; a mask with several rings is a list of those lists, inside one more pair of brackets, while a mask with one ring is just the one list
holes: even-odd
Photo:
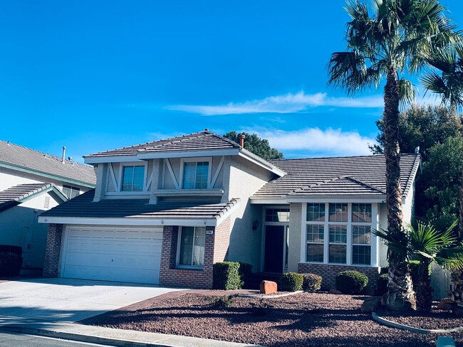
[[[386, 159], [386, 204], [387, 230], [391, 235], [402, 237], [403, 230], [402, 188], [400, 185], [400, 148], [399, 148], [399, 83], [397, 70], [387, 69], [387, 81], [384, 87], [384, 137]], [[387, 285], [387, 306], [391, 309], [416, 309], [410, 268], [406, 255], [397, 255], [388, 250], [389, 283]]]

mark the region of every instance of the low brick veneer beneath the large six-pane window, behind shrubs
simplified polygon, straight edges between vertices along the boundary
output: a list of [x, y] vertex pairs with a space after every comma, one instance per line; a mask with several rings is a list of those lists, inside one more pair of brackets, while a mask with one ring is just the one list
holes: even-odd
[[307, 264], [300, 262], [298, 264], [298, 272], [300, 274], [311, 273], [318, 274], [323, 277], [321, 282], [322, 289], [331, 289], [336, 287], [335, 278], [339, 272], [345, 270], [355, 270], [362, 272], [368, 276], [368, 289], [374, 289], [376, 286], [376, 279], [380, 273], [380, 267], [360, 267], [348, 265], [328, 265], [328, 264]]

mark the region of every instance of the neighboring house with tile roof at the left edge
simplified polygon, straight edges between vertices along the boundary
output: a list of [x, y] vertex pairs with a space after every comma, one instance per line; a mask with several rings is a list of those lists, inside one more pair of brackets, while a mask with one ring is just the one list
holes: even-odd
[[23, 247], [23, 272], [38, 272], [45, 257], [44, 210], [95, 187], [93, 166], [0, 141], [0, 244]]

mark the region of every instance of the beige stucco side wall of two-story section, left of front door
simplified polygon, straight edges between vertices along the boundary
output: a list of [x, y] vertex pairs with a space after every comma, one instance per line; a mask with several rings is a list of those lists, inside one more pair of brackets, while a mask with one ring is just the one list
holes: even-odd
[[[240, 198], [239, 208], [231, 215], [229, 260], [239, 260], [253, 265], [253, 271], [261, 269], [262, 206], [251, 205], [249, 198], [268, 182], [273, 174], [241, 157], [233, 157], [224, 163], [229, 170], [229, 182], [224, 198]], [[224, 175], [227, 177], [227, 175]], [[252, 230], [254, 220], [258, 230]]]

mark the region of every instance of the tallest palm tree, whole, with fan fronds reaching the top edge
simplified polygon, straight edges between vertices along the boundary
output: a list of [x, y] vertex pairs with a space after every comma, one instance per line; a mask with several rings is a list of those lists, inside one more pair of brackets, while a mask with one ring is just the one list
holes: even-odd
[[[402, 225], [400, 148], [398, 143], [399, 104], [415, 98], [412, 83], [400, 75], [417, 73], [427, 62], [422, 56], [433, 47], [444, 46], [454, 36], [455, 26], [444, 18], [446, 11], [437, 0], [375, 0], [373, 15], [359, 0], [347, 2], [351, 21], [346, 28], [347, 51], [335, 52], [327, 65], [328, 84], [342, 87], [348, 95], [379, 87], [385, 79], [384, 135], [386, 159], [387, 230], [405, 242]], [[400, 74], [400, 75], [399, 75]], [[410, 269], [407, 262], [389, 256], [387, 306], [415, 308]]]

